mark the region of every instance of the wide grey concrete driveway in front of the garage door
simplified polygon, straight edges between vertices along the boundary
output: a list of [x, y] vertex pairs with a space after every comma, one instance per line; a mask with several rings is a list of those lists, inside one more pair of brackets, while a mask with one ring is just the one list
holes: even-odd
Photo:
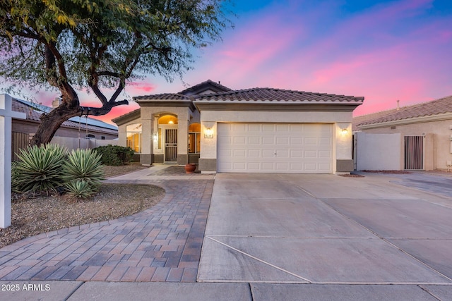
[[451, 285], [452, 198], [364, 175], [218, 174], [198, 281]]

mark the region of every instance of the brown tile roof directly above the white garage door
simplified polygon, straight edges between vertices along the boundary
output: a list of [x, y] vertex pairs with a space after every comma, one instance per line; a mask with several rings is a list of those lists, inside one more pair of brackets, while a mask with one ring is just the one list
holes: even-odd
[[360, 104], [364, 97], [304, 91], [280, 90], [273, 88], [252, 88], [223, 93], [199, 95], [196, 101], [209, 102], [303, 102], [303, 103], [352, 103]]

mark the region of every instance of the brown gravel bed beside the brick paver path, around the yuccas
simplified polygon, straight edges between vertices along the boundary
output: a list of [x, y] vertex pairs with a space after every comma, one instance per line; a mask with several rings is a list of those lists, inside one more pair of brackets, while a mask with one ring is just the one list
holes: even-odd
[[[143, 166], [107, 166], [106, 174], [117, 176]], [[61, 228], [117, 219], [157, 204], [165, 190], [154, 185], [102, 184], [91, 199], [71, 202], [64, 196], [16, 195], [11, 204], [11, 226], [0, 229], [0, 247], [32, 235]]]

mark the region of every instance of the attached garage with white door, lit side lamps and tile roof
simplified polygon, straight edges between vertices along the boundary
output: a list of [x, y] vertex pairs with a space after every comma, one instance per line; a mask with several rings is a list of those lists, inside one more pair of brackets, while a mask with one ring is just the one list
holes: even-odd
[[363, 97], [253, 88], [198, 95], [201, 173], [350, 173]]

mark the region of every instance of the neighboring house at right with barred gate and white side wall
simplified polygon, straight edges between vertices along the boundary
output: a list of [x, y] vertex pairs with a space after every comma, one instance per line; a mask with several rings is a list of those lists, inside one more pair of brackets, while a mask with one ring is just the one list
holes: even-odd
[[[357, 169], [359, 161], [396, 170], [445, 170], [452, 165], [452, 96], [358, 116], [353, 127], [359, 131]], [[359, 147], [360, 135], [366, 145], [374, 145]]]

